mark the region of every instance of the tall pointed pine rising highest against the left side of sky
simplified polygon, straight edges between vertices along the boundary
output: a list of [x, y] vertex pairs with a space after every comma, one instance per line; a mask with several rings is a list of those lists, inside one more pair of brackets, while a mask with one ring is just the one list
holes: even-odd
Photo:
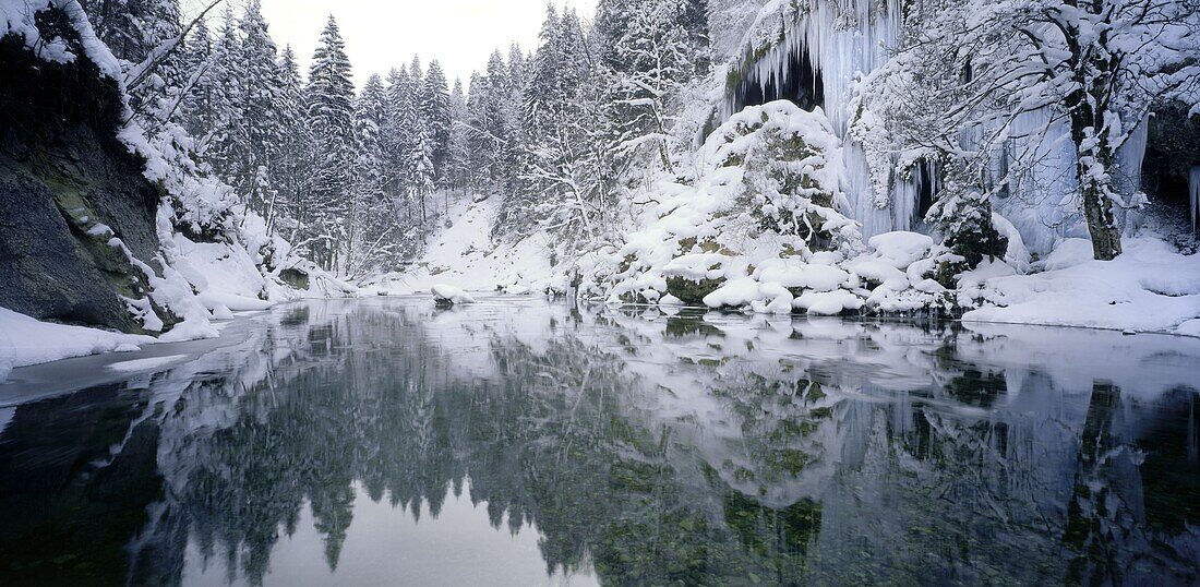
[[307, 119], [318, 145], [308, 234], [313, 260], [329, 270], [342, 269], [350, 214], [350, 170], [354, 168], [354, 85], [346, 43], [332, 16], [320, 35], [308, 68]]

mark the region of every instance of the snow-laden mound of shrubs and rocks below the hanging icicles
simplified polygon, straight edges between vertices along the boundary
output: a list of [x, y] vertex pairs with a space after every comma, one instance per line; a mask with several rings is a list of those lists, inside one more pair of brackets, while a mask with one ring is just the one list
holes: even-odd
[[858, 226], [838, 211], [839, 148], [820, 109], [786, 101], [744, 109], [708, 137], [688, 184], [648, 190], [656, 205], [643, 212], [640, 230], [589, 259], [590, 292], [624, 301], [671, 294], [698, 304], [769, 259], [857, 252]]

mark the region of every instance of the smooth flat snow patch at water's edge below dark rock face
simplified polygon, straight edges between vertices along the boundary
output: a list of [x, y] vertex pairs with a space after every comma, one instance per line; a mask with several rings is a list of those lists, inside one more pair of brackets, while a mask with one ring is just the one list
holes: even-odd
[[114, 351], [137, 351], [151, 336], [38, 322], [0, 307], [0, 381], [14, 367]]

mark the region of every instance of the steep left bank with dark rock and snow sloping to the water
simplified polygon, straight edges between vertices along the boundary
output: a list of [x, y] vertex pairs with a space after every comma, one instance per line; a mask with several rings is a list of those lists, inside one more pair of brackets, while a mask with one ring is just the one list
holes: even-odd
[[0, 104], [12, 110], [0, 125], [0, 303], [19, 310], [0, 309], [0, 371], [156, 340], [102, 329], [215, 337], [212, 321], [234, 311], [353, 292], [206, 174], [181, 127], [143, 130], [132, 64], [79, 2], [0, 0], [0, 37], [5, 73], [24, 82]]

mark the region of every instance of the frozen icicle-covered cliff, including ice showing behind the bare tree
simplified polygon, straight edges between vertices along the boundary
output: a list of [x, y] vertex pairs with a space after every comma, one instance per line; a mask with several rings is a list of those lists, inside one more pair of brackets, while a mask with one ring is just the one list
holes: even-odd
[[[745, 13], [757, 6], [754, 19]], [[922, 152], [889, 144], [887, 128], [871, 112], [887, 100], [869, 88], [870, 76], [890, 59], [906, 26], [898, 0], [770, 0], [737, 2], [720, 14], [751, 23], [737, 48], [725, 49], [730, 66], [720, 119], [746, 106], [790, 100], [820, 107], [844, 142], [840, 157], [841, 212], [862, 223], [866, 238], [890, 230], [924, 230], [923, 218], [940, 187], [938, 169]], [[720, 49], [720, 46], [718, 47]], [[1140, 197], [1146, 122], [1121, 148], [1118, 188], [1130, 209]], [[989, 170], [997, 190], [997, 212], [1020, 230], [1031, 251], [1045, 254], [1055, 244], [1086, 236], [1075, 202], [1075, 152], [1069, 127], [1050, 112], [1021, 115]], [[1121, 214], [1127, 229], [1135, 212]]]

